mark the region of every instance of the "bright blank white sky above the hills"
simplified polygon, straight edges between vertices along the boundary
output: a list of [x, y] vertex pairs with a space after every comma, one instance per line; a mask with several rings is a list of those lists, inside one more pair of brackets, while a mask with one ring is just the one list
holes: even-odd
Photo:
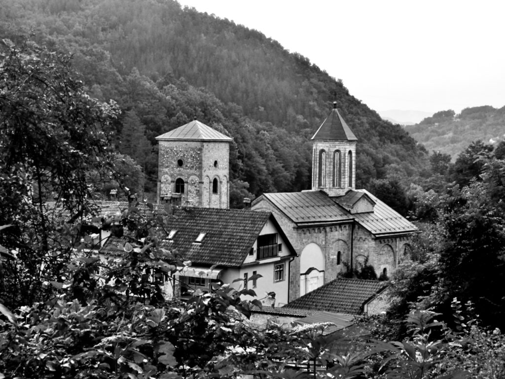
[[179, 0], [256, 29], [377, 111], [505, 105], [501, 0]]

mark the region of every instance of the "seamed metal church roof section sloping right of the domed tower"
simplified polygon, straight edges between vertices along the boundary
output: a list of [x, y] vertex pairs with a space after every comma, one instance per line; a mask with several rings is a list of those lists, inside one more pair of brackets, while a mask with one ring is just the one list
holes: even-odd
[[[366, 189], [359, 189], [357, 192], [362, 192], [372, 201], [375, 202], [374, 211], [368, 213], [355, 213], [355, 220], [362, 225], [365, 229], [370, 231], [374, 235], [385, 235], [385, 234], [397, 234], [405, 232], [417, 231], [417, 227], [407, 220], [405, 217], [401, 216], [386, 203], [380, 201], [378, 198], [373, 196]], [[336, 202], [339, 202], [339, 198], [333, 198]]]

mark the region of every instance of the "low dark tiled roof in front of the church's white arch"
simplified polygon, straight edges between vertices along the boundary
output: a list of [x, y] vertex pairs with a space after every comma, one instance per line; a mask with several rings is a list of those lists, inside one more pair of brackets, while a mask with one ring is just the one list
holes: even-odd
[[357, 315], [386, 286], [384, 281], [338, 278], [284, 307]]

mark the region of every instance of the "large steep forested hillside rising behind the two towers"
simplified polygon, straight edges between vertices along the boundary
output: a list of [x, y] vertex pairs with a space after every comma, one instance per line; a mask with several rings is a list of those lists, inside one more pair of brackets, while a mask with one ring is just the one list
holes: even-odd
[[[11, 39], [30, 32], [71, 52], [90, 95], [118, 102], [119, 150], [144, 168], [151, 190], [157, 167], [149, 144], [193, 117], [235, 139], [232, 196], [246, 194], [247, 184], [254, 195], [308, 188], [309, 139], [334, 98], [359, 138], [357, 185], [390, 167], [412, 175], [426, 159], [401, 127], [308, 59], [172, 0], [3, 0], [0, 22]], [[317, 43], [334, 49], [334, 40]]]

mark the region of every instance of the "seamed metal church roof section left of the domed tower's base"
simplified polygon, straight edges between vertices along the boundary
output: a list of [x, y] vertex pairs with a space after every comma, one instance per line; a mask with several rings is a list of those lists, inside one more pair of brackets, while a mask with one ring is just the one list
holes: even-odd
[[263, 196], [297, 224], [352, 220], [352, 215], [321, 191], [272, 193]]

